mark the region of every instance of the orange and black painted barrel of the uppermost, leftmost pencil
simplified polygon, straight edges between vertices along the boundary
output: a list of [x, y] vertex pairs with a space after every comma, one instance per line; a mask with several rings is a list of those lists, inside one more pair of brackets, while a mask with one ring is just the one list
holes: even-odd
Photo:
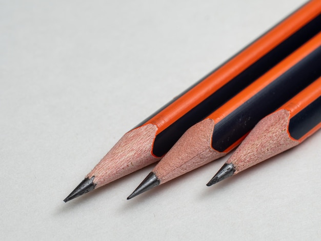
[[307, 3], [174, 102], [139, 124], [157, 126], [151, 153], [162, 157], [189, 127], [321, 31], [320, 13], [321, 1]]

